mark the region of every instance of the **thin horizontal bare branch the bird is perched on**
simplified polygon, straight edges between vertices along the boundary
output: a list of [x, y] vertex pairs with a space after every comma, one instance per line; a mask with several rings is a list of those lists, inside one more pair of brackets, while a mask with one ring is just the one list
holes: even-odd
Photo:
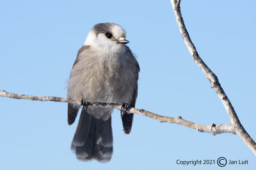
[[[4, 90], [0, 90], [0, 96], [10, 97], [13, 99], [28, 99], [31, 101], [55, 101], [55, 102], [63, 102], [63, 103], [76, 103], [76, 104], [81, 105], [81, 101], [77, 101], [77, 100], [73, 100], [73, 99], [66, 99], [66, 98], [62, 98], [62, 97], [52, 97], [52, 96], [38, 97], [38, 96], [29, 96], [29, 95], [25, 95], [25, 94], [12, 94], [12, 93], [8, 93]], [[116, 108], [118, 110], [124, 110], [122, 108], [122, 104], [116, 104], [116, 103], [91, 103], [89, 101], [86, 101], [86, 106]], [[154, 118], [156, 120], [159, 120], [160, 122], [168, 122], [171, 124], [184, 125], [191, 129], [195, 129], [198, 132], [208, 132], [213, 135], [221, 134], [221, 133], [236, 134], [232, 125], [226, 125], [226, 124], [199, 125], [199, 124], [195, 124], [193, 122], [184, 120], [182, 117], [177, 117], [177, 118], [164, 117], [164, 116], [157, 115], [155, 113], [152, 113], [147, 110], [142, 110], [142, 109], [128, 108], [126, 111], [128, 111], [129, 113], [136, 113], [136, 114], [143, 115], [146, 117]]]

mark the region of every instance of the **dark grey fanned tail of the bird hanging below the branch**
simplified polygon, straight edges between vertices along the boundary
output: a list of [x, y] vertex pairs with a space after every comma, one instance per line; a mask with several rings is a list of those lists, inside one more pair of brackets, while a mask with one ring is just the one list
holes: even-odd
[[111, 117], [104, 121], [82, 110], [71, 150], [79, 160], [108, 162], [113, 153]]

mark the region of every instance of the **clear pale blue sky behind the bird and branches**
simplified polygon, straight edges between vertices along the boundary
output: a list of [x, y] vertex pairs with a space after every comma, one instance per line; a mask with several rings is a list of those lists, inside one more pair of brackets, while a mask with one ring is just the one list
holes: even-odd
[[[256, 139], [255, 1], [182, 1], [182, 15], [200, 57], [218, 76], [246, 131]], [[99, 22], [127, 31], [141, 67], [136, 108], [198, 124], [229, 124], [209, 81], [184, 45], [170, 1], [1, 1], [0, 89], [67, 97], [77, 50]], [[113, 113], [111, 162], [79, 162], [70, 152], [76, 124], [67, 104], [0, 97], [2, 169], [218, 169], [176, 160], [248, 160], [253, 153], [234, 134], [212, 136], [135, 115], [132, 132]]]

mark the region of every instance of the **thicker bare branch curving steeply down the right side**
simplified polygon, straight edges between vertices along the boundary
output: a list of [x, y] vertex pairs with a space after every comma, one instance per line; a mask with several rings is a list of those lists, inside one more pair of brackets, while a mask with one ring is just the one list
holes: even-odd
[[195, 45], [192, 43], [188, 31], [186, 29], [186, 26], [184, 24], [184, 20], [182, 18], [182, 14], [180, 11], [180, 0], [170, 0], [172, 3], [173, 11], [175, 14], [176, 22], [179, 27], [180, 34], [182, 35], [182, 38], [184, 39], [184, 43], [187, 46], [189, 53], [192, 55], [193, 60], [197, 64], [198, 67], [203, 71], [206, 78], [211, 83], [211, 88], [214, 89], [218, 97], [220, 98], [223, 106], [225, 107], [225, 110], [228, 113], [228, 116], [230, 118], [230, 125], [232, 126], [232, 129], [234, 129], [235, 133], [243, 139], [244, 143], [252, 150], [254, 155], [256, 155], [256, 143], [253, 141], [253, 139], [250, 137], [250, 135], [245, 131], [243, 125], [239, 121], [239, 118], [237, 117], [236, 111], [234, 110], [232, 104], [230, 103], [230, 100], [228, 99], [227, 95], [225, 94], [224, 90], [222, 89], [220, 82], [218, 80], [218, 77], [212, 73], [211, 69], [204, 63], [204, 61], [200, 58]]

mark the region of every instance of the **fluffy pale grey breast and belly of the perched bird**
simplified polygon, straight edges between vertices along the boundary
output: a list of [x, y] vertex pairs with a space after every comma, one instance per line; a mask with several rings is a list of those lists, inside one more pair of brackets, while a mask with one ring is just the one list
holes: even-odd
[[136, 78], [131, 59], [124, 55], [99, 55], [90, 50], [81, 52], [68, 81], [68, 97], [93, 102], [129, 103]]

